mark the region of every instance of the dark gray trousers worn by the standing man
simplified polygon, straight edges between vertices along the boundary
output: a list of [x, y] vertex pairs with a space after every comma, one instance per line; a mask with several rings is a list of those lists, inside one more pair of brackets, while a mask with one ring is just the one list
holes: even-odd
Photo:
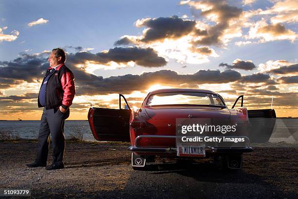
[[46, 164], [47, 162], [51, 134], [53, 144], [52, 164], [63, 165], [65, 149], [64, 122], [68, 117], [69, 109], [66, 113], [61, 113], [59, 109], [43, 109], [38, 134], [37, 163]]

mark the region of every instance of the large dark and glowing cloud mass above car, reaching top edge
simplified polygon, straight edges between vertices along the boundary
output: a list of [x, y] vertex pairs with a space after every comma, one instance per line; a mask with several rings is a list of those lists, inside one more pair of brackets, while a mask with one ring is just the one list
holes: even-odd
[[145, 27], [143, 34], [124, 35], [114, 45], [151, 47], [158, 55], [179, 63], [201, 64], [209, 62], [209, 56], [218, 57], [210, 45], [226, 45], [232, 38], [242, 36], [241, 8], [220, 0], [188, 0], [180, 4], [189, 5], [204, 20], [178, 16], [139, 19], [135, 25]]

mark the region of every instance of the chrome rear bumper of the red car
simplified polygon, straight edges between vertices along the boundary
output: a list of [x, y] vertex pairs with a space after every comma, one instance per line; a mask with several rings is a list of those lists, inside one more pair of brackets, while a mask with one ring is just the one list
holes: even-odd
[[[135, 138], [134, 146], [130, 146], [131, 152], [139, 153], [163, 153], [163, 154], [176, 154], [177, 148], [158, 148], [158, 147], [140, 147], [138, 146], [138, 140], [141, 138], [169, 138], [176, 139], [176, 136], [162, 136], [162, 135], [141, 135]], [[246, 137], [247, 138], [247, 137]], [[248, 139], [248, 138], [247, 138]], [[249, 139], [248, 139], [249, 140]], [[246, 147], [211, 147], [205, 146], [206, 153], [247, 153], [252, 152], [254, 149], [250, 146]]]

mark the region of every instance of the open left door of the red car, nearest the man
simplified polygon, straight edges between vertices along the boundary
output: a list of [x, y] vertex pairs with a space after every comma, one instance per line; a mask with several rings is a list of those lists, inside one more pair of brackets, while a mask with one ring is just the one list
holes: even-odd
[[[126, 106], [121, 109], [121, 98]], [[119, 94], [119, 109], [90, 108], [88, 121], [91, 131], [99, 141], [130, 141], [130, 106], [125, 97]]]

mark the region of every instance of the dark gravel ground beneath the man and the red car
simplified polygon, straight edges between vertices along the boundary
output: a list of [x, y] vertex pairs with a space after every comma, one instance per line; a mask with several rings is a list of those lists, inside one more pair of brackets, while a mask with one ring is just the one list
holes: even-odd
[[32, 198], [298, 198], [298, 148], [256, 148], [244, 154], [238, 172], [211, 159], [162, 158], [149, 171], [134, 171], [129, 143], [67, 142], [65, 169], [46, 171], [25, 166], [36, 144], [0, 142], [0, 189], [30, 188]]

